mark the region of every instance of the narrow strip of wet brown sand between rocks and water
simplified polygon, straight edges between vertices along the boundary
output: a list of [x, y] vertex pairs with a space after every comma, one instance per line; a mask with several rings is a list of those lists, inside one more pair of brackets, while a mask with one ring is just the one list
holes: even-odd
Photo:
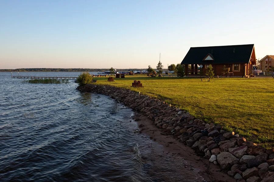
[[215, 182], [236, 182], [233, 177], [228, 176], [224, 172], [221, 172], [219, 166], [209, 162], [207, 159], [199, 157], [193, 149], [181, 143], [178, 139], [172, 135], [166, 135], [157, 128], [153, 121], [148, 119], [142, 113], [135, 112], [135, 121], [139, 125], [140, 133], [149, 136], [154, 142], [163, 145], [163, 154], [171, 156], [180, 156], [188, 164], [193, 166], [195, 170], [199, 170], [199, 174], [205, 181]]

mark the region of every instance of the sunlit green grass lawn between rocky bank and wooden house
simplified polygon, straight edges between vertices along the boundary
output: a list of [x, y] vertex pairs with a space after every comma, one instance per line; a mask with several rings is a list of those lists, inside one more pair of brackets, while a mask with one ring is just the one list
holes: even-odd
[[[214, 78], [150, 78], [144, 75], [94, 78], [97, 84], [131, 89], [187, 110], [206, 122], [221, 124], [248, 140], [266, 148], [274, 148], [274, 79], [253, 77]], [[140, 80], [143, 88], [131, 87]]]

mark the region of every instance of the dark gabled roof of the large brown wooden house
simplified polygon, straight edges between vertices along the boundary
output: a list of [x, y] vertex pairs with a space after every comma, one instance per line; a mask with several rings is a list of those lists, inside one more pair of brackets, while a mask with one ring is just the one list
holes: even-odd
[[[253, 47], [254, 44], [191, 47], [181, 64], [248, 63]], [[213, 56], [213, 61], [203, 61], [208, 54]]]

